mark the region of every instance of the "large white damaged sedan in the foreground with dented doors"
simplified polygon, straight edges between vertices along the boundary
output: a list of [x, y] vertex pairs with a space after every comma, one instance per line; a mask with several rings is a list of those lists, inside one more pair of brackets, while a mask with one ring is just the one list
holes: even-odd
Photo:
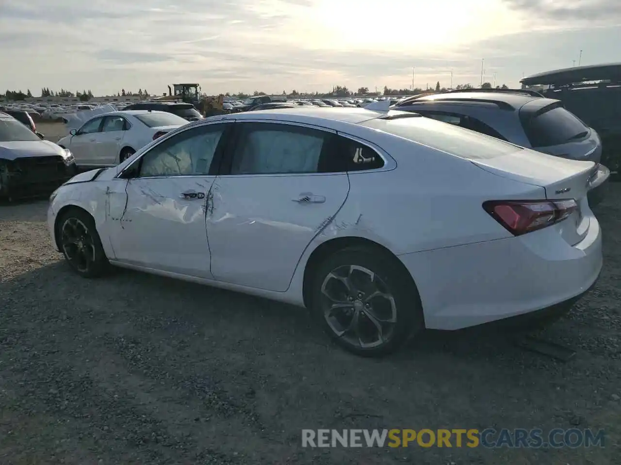
[[84, 277], [111, 263], [306, 306], [383, 355], [425, 327], [570, 308], [602, 267], [593, 167], [412, 113], [276, 108], [77, 175], [48, 227]]

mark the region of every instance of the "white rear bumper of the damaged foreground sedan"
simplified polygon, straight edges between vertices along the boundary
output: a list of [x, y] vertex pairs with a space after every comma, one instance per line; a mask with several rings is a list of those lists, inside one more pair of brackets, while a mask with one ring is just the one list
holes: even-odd
[[570, 308], [597, 280], [602, 238], [570, 246], [561, 226], [524, 236], [399, 255], [412, 274], [429, 329], [457, 330], [543, 309]]

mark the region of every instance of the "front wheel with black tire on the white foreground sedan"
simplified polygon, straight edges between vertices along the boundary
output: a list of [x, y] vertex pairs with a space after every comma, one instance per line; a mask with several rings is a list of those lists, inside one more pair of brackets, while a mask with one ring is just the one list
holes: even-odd
[[58, 220], [57, 231], [60, 249], [74, 272], [84, 278], [106, 273], [109, 262], [91, 215], [79, 208], [66, 211]]

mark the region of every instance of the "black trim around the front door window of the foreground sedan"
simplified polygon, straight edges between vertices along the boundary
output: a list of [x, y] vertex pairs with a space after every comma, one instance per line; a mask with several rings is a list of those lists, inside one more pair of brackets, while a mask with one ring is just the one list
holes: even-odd
[[[228, 146], [230, 143], [231, 132], [234, 127], [234, 120], [217, 120], [212, 121], [207, 124], [201, 125], [188, 125], [189, 127], [183, 127], [183, 130], [180, 131], [171, 131], [168, 135], [162, 136], [158, 139], [157, 143], [150, 146], [143, 153], [140, 154], [133, 162], [127, 165], [117, 176], [115, 179], [162, 179], [168, 177], [175, 178], [193, 178], [193, 177], [215, 177], [220, 174], [220, 167], [222, 166], [222, 159], [224, 158], [224, 154], [228, 151]], [[224, 126], [224, 131], [222, 136], [220, 136], [220, 140], [218, 141], [218, 146], [215, 148], [214, 159], [211, 161], [211, 166], [209, 166], [209, 174], [175, 174], [175, 175], [161, 175], [161, 176], [143, 176], [140, 174], [140, 167], [142, 166], [142, 157], [146, 154], [150, 153], [156, 147], [159, 147], [161, 144], [166, 143], [166, 141], [170, 141], [170, 139], [175, 138], [187, 131], [192, 130], [207, 130], [207, 128], [211, 128], [215, 125]], [[138, 174], [136, 174], [138, 173]]]

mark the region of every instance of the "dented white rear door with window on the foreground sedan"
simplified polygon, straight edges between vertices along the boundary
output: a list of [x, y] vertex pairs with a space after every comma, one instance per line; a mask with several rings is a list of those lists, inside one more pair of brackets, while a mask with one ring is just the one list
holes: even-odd
[[333, 131], [265, 120], [235, 126], [207, 207], [211, 272], [286, 291], [308, 244], [345, 203], [348, 176], [317, 172]]

